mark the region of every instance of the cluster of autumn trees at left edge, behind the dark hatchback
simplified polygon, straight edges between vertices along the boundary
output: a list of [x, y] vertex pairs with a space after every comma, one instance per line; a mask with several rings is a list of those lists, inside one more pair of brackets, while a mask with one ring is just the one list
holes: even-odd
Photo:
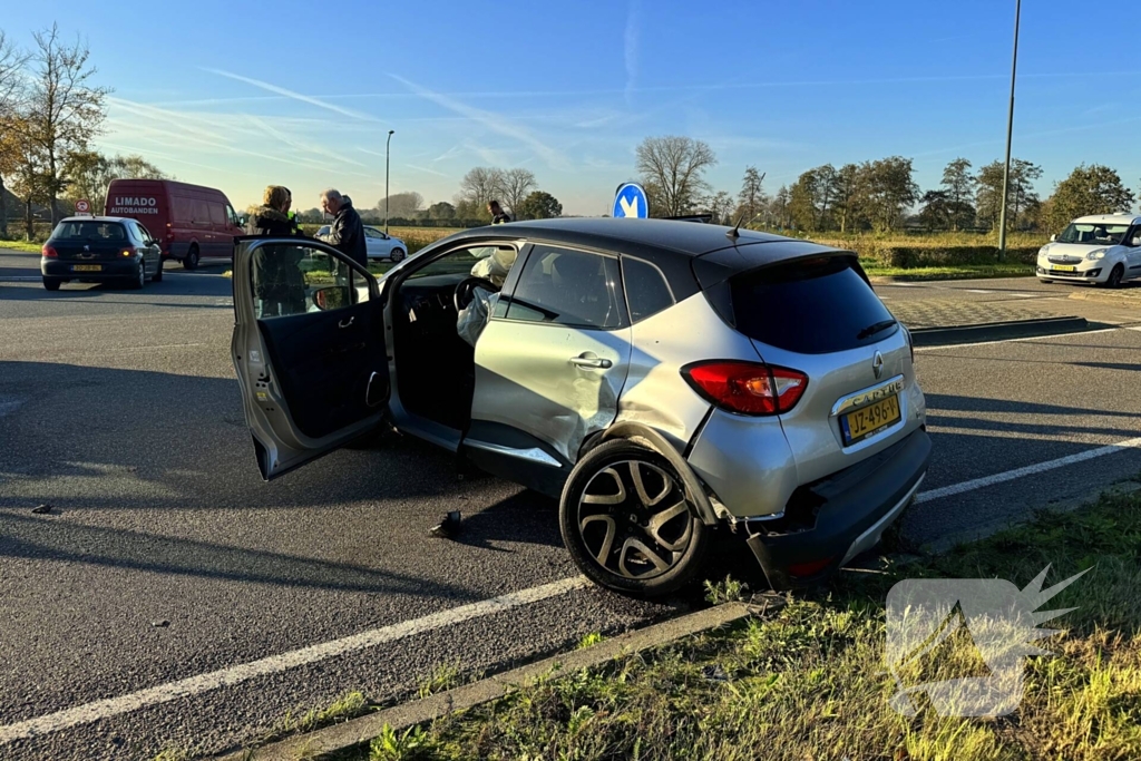
[[100, 211], [116, 177], [167, 178], [141, 156], [92, 149], [112, 90], [95, 84], [87, 44], [64, 41], [56, 25], [32, 41], [24, 49], [0, 30], [0, 235], [8, 234], [10, 193], [24, 207], [30, 238], [35, 208], [47, 208], [55, 224], [67, 213], [64, 202], [88, 199]]

